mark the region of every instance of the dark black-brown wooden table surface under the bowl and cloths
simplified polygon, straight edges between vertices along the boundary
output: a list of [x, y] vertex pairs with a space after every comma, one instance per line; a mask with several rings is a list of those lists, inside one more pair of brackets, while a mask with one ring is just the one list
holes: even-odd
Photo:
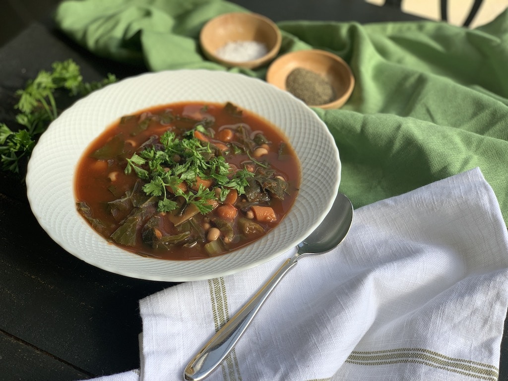
[[[363, 0], [235, 1], [275, 21], [402, 21], [416, 17]], [[14, 91], [53, 61], [74, 59], [86, 81], [146, 71], [100, 59], [37, 22], [0, 48], [0, 121], [14, 118]], [[138, 300], [173, 283], [92, 267], [60, 248], [38, 225], [22, 182], [0, 172], [0, 379], [59, 381], [139, 367]], [[508, 374], [503, 341], [501, 379]]]

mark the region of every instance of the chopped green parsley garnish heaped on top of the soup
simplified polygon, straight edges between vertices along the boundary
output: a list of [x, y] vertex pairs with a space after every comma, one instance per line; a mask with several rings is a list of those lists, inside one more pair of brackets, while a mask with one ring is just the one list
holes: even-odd
[[[181, 138], [167, 131], [161, 135], [161, 149], [145, 147], [126, 159], [125, 173], [134, 171], [139, 178], [147, 181], [143, 186], [145, 194], [161, 198], [157, 211], [170, 212], [178, 208], [178, 203], [171, 199], [174, 194], [206, 214], [213, 208], [210, 201], [224, 201], [230, 189], [244, 194], [247, 179], [254, 176], [245, 169], [233, 172], [224, 156], [215, 154], [212, 144], [194, 137], [195, 130], [205, 132], [201, 124]], [[198, 179], [212, 180], [219, 192], [202, 184], [197, 190], [192, 190], [193, 186], [196, 188]], [[185, 183], [186, 191], [179, 186], [181, 183]], [[168, 188], [173, 190], [172, 194], [168, 194]]]

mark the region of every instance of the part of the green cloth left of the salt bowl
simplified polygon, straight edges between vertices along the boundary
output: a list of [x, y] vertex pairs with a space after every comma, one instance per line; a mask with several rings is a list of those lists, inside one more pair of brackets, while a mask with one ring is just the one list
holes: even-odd
[[[201, 27], [234, 11], [243, 8], [220, 0], [71, 0], [59, 5], [55, 17], [62, 30], [100, 56], [170, 69], [203, 64]], [[219, 66], [210, 62], [209, 68]]]

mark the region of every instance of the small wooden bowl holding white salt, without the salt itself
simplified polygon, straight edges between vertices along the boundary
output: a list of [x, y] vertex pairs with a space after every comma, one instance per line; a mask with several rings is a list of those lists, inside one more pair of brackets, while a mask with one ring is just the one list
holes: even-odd
[[[279, 52], [282, 37], [277, 25], [269, 18], [256, 13], [233, 12], [214, 17], [208, 21], [199, 36], [205, 56], [222, 65], [258, 68], [271, 61]], [[236, 61], [217, 55], [217, 50], [228, 43], [263, 43], [267, 53], [255, 59]]]

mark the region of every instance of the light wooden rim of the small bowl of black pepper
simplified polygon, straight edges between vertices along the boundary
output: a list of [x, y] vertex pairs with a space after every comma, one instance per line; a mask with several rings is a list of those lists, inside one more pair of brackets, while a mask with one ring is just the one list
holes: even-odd
[[[266, 81], [268, 83], [271, 83], [272, 85], [280, 88], [281, 90], [289, 91], [285, 87], [285, 77], [287, 77], [287, 75], [284, 77], [284, 81], [282, 82], [283, 86], [281, 87], [281, 86], [279, 86], [279, 81], [276, 80], [277, 79], [276, 71], [280, 68], [284, 68], [284, 67], [288, 67], [288, 66], [290, 66], [291, 69], [299, 68], [300, 66], [297, 63], [295, 63], [294, 65], [291, 65], [291, 64], [293, 62], [302, 61], [303, 57], [308, 58], [308, 57], [317, 56], [317, 55], [325, 56], [325, 57], [330, 58], [333, 61], [337, 62], [337, 64], [342, 69], [344, 69], [345, 72], [347, 73], [347, 78], [349, 79], [349, 81], [348, 81], [348, 84], [345, 88], [345, 91], [337, 99], [333, 100], [332, 102], [324, 103], [321, 105], [309, 105], [309, 107], [319, 107], [319, 108], [323, 108], [323, 109], [334, 109], [334, 108], [338, 108], [338, 107], [342, 106], [345, 102], [347, 102], [347, 100], [351, 97], [351, 94], [353, 93], [353, 89], [355, 88], [355, 82], [356, 82], [355, 76], [353, 74], [353, 71], [351, 70], [351, 67], [347, 64], [347, 62], [344, 59], [342, 59], [340, 56], [338, 56], [332, 52], [329, 52], [327, 50], [301, 49], [301, 50], [295, 50], [292, 52], [282, 54], [281, 56], [277, 57], [272, 63], [270, 63], [270, 66], [268, 67], [268, 70], [266, 72]], [[288, 73], [289, 72], [290, 72], [290, 70], [288, 70]]]

